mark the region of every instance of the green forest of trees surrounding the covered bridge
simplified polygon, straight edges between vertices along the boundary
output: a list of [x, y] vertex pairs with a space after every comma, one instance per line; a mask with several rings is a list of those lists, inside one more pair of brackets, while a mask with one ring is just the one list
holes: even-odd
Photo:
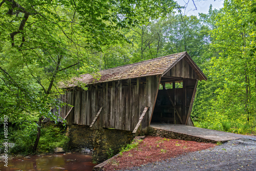
[[172, 0], [3, 0], [0, 119], [12, 151], [66, 144], [59, 128], [41, 126], [44, 117], [56, 121], [52, 106], [63, 105], [59, 81], [184, 51], [208, 78], [198, 84], [195, 126], [255, 134], [256, 2], [225, 0], [199, 16], [180, 11]]

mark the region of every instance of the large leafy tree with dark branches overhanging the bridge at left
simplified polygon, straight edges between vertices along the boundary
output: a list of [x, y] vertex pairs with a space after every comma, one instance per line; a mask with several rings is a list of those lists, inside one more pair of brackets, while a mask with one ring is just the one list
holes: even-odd
[[[44, 0], [0, 3], [1, 116], [37, 117], [36, 150], [43, 117], [59, 105], [58, 82], [94, 70], [92, 52], [128, 41], [119, 31], [166, 16], [174, 1]], [[16, 93], [14, 93], [14, 91]], [[1, 110], [3, 111], [3, 110]]]

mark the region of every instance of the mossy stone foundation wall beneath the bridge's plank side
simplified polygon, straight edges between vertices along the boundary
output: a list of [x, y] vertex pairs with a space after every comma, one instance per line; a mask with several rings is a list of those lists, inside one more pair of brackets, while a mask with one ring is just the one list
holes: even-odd
[[68, 127], [69, 146], [72, 149], [93, 149], [93, 161], [100, 163], [119, 153], [120, 148], [131, 143], [134, 134], [131, 131], [115, 129], [92, 130], [87, 125]]

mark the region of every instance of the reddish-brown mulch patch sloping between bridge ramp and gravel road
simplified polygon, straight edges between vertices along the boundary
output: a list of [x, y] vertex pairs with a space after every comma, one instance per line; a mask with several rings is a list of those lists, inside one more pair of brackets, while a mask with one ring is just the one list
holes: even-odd
[[119, 170], [145, 165], [214, 146], [216, 144], [147, 136], [136, 148], [113, 158], [104, 166], [104, 170]]

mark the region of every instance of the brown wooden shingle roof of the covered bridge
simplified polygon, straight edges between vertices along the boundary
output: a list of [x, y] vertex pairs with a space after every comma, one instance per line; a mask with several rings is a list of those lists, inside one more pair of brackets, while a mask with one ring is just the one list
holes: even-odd
[[[75, 87], [77, 81], [92, 84], [99, 82], [108, 82], [128, 78], [137, 78], [151, 75], [163, 75], [172, 68], [181, 58], [189, 55], [186, 52], [176, 53], [172, 55], [162, 56], [154, 59], [144, 60], [125, 66], [106, 69], [99, 71], [100, 79], [93, 78], [91, 74], [83, 74], [74, 78], [74, 83], [69, 83], [65, 87]], [[190, 57], [189, 57], [190, 58]], [[190, 58], [191, 59], [191, 58]], [[199, 69], [196, 66], [197, 69]], [[200, 70], [200, 69], [199, 69]], [[201, 71], [201, 70], [200, 70]], [[201, 71], [202, 72], [202, 71]]]

